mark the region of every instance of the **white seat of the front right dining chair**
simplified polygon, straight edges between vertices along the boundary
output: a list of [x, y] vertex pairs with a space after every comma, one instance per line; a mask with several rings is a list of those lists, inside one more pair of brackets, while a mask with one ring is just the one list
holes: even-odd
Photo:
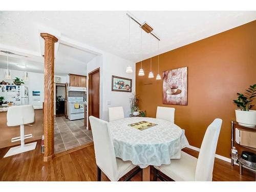
[[195, 181], [197, 158], [181, 151], [180, 159], [171, 159], [169, 165], [155, 168], [175, 181]]

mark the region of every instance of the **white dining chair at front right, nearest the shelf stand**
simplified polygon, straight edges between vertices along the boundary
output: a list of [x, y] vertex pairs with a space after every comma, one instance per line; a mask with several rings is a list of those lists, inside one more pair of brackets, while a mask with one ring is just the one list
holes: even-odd
[[165, 180], [158, 170], [175, 181], [211, 181], [221, 119], [215, 119], [205, 132], [198, 159], [181, 151], [180, 159], [172, 159], [169, 165], [154, 166], [154, 181]]

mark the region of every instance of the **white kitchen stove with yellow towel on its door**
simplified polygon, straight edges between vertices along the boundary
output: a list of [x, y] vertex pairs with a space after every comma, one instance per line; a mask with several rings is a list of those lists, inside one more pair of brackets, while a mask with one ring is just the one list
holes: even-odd
[[84, 108], [86, 108], [86, 101], [83, 101], [83, 97], [68, 97], [69, 120], [83, 119]]

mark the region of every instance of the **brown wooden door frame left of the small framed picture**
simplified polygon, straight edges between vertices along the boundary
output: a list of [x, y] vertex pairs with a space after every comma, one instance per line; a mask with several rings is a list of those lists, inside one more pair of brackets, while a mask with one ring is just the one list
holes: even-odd
[[97, 73], [99, 72], [99, 116], [100, 116], [100, 68], [97, 68], [93, 71], [91, 71], [90, 73], [88, 73], [88, 116], [87, 116], [87, 122], [88, 122], [88, 130], [91, 130], [91, 124], [90, 124], [90, 121], [89, 121], [89, 117], [91, 116], [92, 114], [92, 103], [91, 103], [91, 96], [92, 96], [92, 75], [94, 73]]

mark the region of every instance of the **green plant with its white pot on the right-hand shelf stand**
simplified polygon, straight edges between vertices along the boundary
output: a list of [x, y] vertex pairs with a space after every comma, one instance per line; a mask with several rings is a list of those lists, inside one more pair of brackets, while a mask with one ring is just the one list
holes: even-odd
[[240, 109], [236, 110], [236, 120], [239, 124], [255, 127], [256, 111], [250, 110], [254, 104], [252, 101], [256, 96], [256, 84], [250, 86], [244, 94], [237, 93], [238, 98], [233, 100]]

